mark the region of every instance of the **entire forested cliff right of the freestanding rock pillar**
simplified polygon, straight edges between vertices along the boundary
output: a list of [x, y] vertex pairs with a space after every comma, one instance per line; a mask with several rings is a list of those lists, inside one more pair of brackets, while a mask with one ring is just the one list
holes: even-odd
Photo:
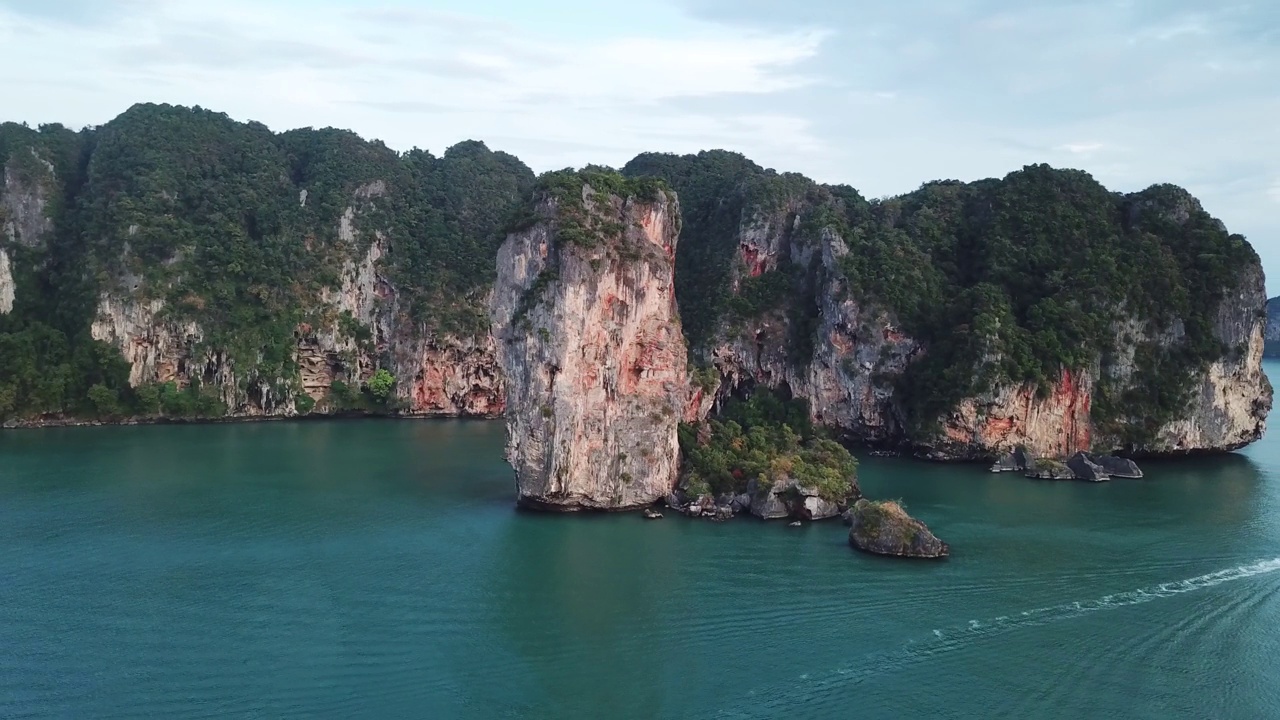
[[1185, 191], [1116, 196], [1033, 167], [867, 204], [716, 154], [628, 172], [690, 190], [681, 302], [714, 309], [692, 343], [721, 398], [785, 388], [846, 439], [940, 460], [1224, 451], [1263, 432], [1261, 265]]

